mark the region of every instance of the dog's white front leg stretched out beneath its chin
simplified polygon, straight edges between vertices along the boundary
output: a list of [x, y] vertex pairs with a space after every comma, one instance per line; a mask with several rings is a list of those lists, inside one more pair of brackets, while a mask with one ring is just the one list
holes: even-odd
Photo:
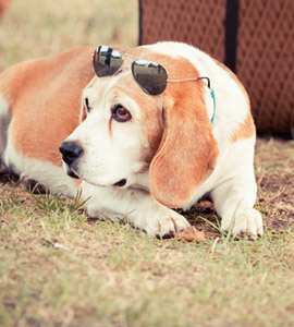
[[125, 218], [149, 235], [163, 237], [189, 226], [182, 215], [160, 205], [148, 191], [136, 185], [121, 190], [113, 186], [97, 187], [83, 182], [82, 191], [83, 197], [88, 198], [87, 211], [90, 216]]

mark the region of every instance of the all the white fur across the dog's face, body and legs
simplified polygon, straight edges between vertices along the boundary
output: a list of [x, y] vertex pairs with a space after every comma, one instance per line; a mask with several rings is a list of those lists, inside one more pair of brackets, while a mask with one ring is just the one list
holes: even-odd
[[[261, 215], [253, 208], [256, 199], [253, 168], [255, 136], [235, 143], [231, 141], [249, 110], [241, 86], [226, 70], [197, 48], [177, 43], [159, 43], [147, 47], [157, 53], [189, 60], [201, 76], [210, 78], [216, 94], [217, 110], [212, 133], [219, 148], [217, 166], [184, 209], [210, 194], [217, 213], [222, 217], [223, 230], [262, 234]], [[140, 95], [112, 92], [120, 85], [123, 74], [100, 78], [97, 85], [94, 84], [84, 93], [93, 109], [66, 138], [78, 142], [84, 149], [84, 155], [71, 169], [83, 179], [83, 198], [88, 199], [86, 206], [90, 216], [126, 217], [134, 227], [150, 235], [183, 230], [188, 227], [187, 220], [159, 204], [149, 192], [149, 171], [143, 160], [144, 152], [148, 150], [143, 126], [148, 122], [142, 119], [138, 105]], [[210, 119], [213, 102], [207, 87], [204, 87], [204, 93]], [[118, 102], [127, 107], [132, 113], [132, 123], [110, 121], [111, 107]], [[56, 192], [74, 195], [74, 183], [61, 168], [38, 158], [28, 159], [16, 154], [10, 142], [4, 159], [7, 165], [13, 165], [16, 172], [35, 179]], [[126, 179], [126, 184], [123, 187], [114, 186], [121, 179]]]

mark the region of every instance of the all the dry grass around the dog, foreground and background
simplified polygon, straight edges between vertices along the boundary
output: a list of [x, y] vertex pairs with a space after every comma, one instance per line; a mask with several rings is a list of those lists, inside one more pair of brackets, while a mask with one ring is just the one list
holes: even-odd
[[[136, 24], [135, 0], [13, 0], [0, 69], [84, 44], [134, 46]], [[258, 140], [265, 237], [254, 242], [222, 234], [210, 206], [187, 213], [207, 243], [157, 240], [2, 177], [0, 326], [294, 326], [293, 149]]]

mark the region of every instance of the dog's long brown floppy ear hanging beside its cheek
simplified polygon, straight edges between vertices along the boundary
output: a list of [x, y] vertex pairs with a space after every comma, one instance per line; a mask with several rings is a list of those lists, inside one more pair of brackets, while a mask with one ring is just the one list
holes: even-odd
[[166, 90], [164, 129], [150, 165], [150, 191], [171, 208], [187, 205], [216, 166], [218, 145], [203, 87], [199, 81], [185, 82]]

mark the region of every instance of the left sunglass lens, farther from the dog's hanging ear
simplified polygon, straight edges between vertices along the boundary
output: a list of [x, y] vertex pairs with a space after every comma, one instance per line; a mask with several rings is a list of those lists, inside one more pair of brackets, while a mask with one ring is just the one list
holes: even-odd
[[98, 77], [113, 75], [122, 64], [122, 55], [112, 48], [100, 46], [94, 52], [93, 68]]

